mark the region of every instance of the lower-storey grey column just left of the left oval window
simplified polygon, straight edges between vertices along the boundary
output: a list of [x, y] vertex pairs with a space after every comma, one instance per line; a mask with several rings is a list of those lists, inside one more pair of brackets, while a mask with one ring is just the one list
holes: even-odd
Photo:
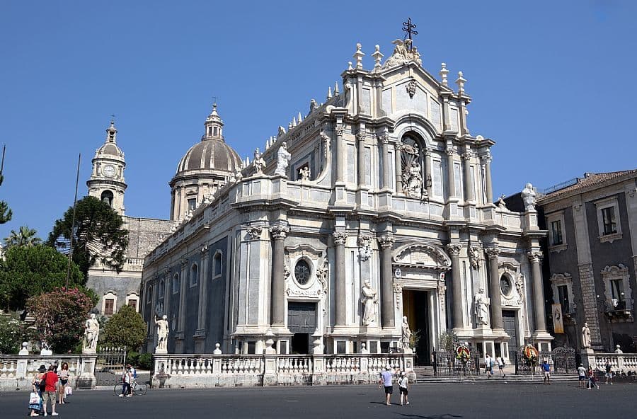
[[270, 227], [272, 236], [272, 287], [270, 289], [270, 324], [285, 325], [285, 237], [288, 226]]

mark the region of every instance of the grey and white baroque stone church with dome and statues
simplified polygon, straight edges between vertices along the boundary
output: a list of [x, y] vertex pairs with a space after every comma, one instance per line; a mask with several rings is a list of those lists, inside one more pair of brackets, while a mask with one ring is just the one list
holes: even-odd
[[179, 224], [144, 260], [149, 352], [164, 314], [169, 353], [390, 352], [403, 316], [420, 364], [449, 329], [481, 354], [550, 349], [532, 202], [493, 202], [495, 142], [469, 131], [463, 74], [394, 45], [372, 69], [357, 45], [251, 162], [213, 108], [171, 180]]

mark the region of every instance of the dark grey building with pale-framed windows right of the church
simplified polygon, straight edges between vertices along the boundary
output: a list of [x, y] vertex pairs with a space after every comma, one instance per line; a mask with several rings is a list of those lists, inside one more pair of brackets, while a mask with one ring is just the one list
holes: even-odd
[[549, 230], [547, 286], [563, 319], [556, 345], [582, 348], [588, 323], [593, 350], [637, 352], [636, 195], [634, 169], [585, 173], [538, 200]]

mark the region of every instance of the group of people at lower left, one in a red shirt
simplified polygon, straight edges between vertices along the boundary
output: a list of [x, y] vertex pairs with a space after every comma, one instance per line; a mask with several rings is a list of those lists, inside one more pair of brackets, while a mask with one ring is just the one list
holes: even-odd
[[69, 386], [71, 373], [69, 364], [64, 362], [62, 369], [57, 369], [57, 365], [50, 365], [49, 368], [40, 365], [38, 373], [33, 377], [33, 392], [29, 400], [30, 416], [47, 416], [47, 405], [51, 402], [51, 415], [57, 416], [55, 411], [56, 403], [65, 404], [67, 396], [70, 394]]

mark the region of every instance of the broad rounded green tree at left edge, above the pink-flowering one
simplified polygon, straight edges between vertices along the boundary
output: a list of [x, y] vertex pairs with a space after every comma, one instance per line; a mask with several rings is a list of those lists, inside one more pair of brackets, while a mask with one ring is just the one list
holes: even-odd
[[[64, 287], [69, 259], [49, 246], [13, 246], [0, 259], [0, 307], [25, 308], [26, 300]], [[84, 275], [71, 263], [69, 287], [84, 287]]]

